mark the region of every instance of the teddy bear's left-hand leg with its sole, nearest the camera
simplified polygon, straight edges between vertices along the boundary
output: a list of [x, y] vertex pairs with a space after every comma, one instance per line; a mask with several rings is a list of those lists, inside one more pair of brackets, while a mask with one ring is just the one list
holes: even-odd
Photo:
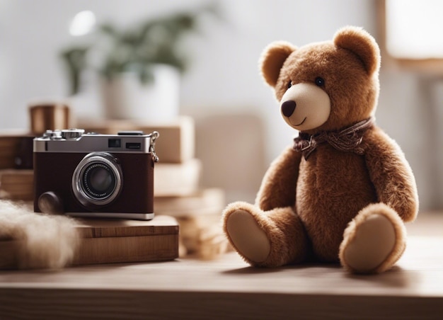
[[254, 266], [277, 267], [306, 258], [309, 241], [291, 207], [263, 212], [246, 202], [224, 210], [224, 232], [236, 251]]

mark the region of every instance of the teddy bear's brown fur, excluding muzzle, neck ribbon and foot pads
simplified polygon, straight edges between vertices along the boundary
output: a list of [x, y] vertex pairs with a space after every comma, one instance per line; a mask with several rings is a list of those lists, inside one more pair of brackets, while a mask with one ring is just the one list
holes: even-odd
[[[374, 39], [360, 28], [346, 27], [333, 41], [299, 48], [275, 42], [265, 49], [260, 63], [263, 78], [275, 88], [279, 101], [289, 81], [325, 79], [329, 118], [306, 133], [340, 130], [374, 115], [380, 53]], [[343, 252], [364, 219], [383, 215], [393, 224], [396, 244], [379, 267], [367, 273], [391, 268], [405, 247], [403, 221], [412, 221], [418, 212], [415, 179], [400, 147], [379, 127], [364, 133], [361, 146], [364, 154], [359, 155], [320, 144], [308, 160], [292, 147], [284, 150], [265, 174], [255, 205], [235, 202], [224, 211], [225, 232], [238, 253], [251, 265], [299, 263], [313, 256], [317, 261], [341, 261], [347, 270], [359, 273], [362, 270], [347, 265]], [[231, 240], [226, 221], [236, 210], [249, 212], [267, 234], [270, 253], [265, 261], [251, 261]], [[253, 241], [253, 234], [250, 238]]]

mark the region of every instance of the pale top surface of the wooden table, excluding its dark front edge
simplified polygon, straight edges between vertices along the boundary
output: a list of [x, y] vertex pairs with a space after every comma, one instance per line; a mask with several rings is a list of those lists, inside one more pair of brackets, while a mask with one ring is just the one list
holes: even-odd
[[227, 253], [213, 261], [179, 258], [125, 268], [84, 265], [57, 271], [1, 271], [0, 288], [443, 298], [443, 256], [437, 254], [442, 246], [441, 237], [412, 236], [396, 267], [379, 275], [350, 275], [339, 265], [320, 263], [252, 268], [236, 253]]

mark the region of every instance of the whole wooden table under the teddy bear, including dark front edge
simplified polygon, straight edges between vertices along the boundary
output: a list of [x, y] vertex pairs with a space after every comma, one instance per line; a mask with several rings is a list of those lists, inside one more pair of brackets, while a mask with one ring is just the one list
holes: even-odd
[[408, 224], [381, 275], [337, 265], [251, 268], [214, 261], [0, 271], [0, 319], [443, 319], [443, 215]]

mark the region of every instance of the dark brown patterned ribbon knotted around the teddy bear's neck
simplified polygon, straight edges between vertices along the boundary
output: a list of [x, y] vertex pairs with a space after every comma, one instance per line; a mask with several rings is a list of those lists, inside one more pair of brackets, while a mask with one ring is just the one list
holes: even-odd
[[294, 149], [301, 152], [307, 160], [318, 144], [328, 142], [332, 147], [344, 152], [363, 154], [364, 149], [359, 147], [363, 141], [363, 133], [374, 125], [374, 117], [357, 122], [340, 131], [323, 131], [315, 135], [300, 132], [294, 139]]

